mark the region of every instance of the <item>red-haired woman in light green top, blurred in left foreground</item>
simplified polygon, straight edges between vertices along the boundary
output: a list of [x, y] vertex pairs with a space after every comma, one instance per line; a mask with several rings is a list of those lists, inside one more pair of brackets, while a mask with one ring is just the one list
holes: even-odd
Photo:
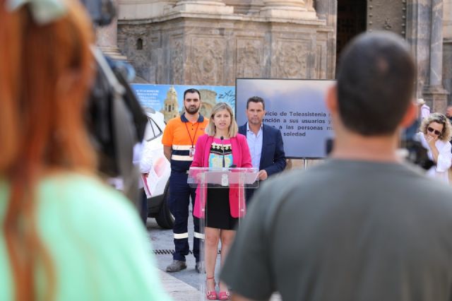
[[0, 300], [167, 300], [131, 203], [95, 177], [78, 0], [0, 0]]

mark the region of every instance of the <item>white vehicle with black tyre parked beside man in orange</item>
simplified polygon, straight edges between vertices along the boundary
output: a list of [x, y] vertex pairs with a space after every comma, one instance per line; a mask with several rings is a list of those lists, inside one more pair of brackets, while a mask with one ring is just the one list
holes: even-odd
[[148, 217], [155, 218], [160, 227], [172, 229], [174, 216], [169, 212], [167, 203], [171, 165], [163, 153], [162, 145], [166, 123], [163, 114], [152, 108], [146, 107], [145, 114], [148, 116], [148, 124], [143, 138], [143, 149], [150, 149], [153, 160], [153, 170], [147, 178], [150, 179], [148, 187], [151, 195], [148, 198]]

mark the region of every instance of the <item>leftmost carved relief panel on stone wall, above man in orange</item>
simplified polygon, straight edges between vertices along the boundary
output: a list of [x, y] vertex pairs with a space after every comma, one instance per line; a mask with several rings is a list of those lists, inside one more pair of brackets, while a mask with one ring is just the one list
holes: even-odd
[[223, 81], [225, 40], [212, 37], [193, 37], [189, 82], [197, 85], [219, 85]]

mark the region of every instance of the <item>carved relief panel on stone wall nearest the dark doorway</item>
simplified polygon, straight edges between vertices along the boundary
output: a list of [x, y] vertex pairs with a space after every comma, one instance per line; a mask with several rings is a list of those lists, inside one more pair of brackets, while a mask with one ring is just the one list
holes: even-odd
[[279, 78], [307, 78], [309, 45], [306, 42], [278, 41], [276, 74]]

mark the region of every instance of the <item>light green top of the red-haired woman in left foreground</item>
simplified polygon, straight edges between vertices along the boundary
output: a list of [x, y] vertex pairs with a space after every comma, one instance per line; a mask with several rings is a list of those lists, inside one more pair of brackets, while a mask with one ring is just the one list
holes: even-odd
[[[75, 174], [47, 177], [37, 193], [37, 227], [54, 263], [56, 300], [169, 300], [141, 220], [124, 196], [97, 179]], [[8, 184], [0, 181], [2, 223], [8, 194]], [[0, 267], [0, 300], [13, 300], [3, 232]]]

